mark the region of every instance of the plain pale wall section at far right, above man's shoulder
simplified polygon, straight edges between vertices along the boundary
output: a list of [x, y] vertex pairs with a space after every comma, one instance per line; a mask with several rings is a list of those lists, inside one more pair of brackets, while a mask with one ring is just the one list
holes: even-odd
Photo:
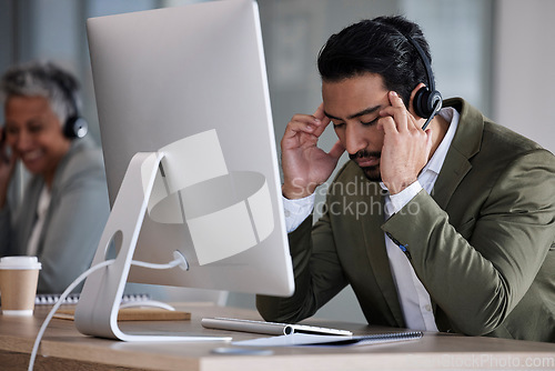
[[493, 119], [555, 152], [555, 1], [496, 2]]

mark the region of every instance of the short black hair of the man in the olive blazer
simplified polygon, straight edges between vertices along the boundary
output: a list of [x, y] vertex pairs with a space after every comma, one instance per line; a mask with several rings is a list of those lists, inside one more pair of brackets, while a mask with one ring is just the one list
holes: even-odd
[[377, 17], [332, 34], [320, 50], [323, 81], [336, 82], [367, 72], [382, 76], [385, 89], [396, 91], [406, 107], [420, 83], [428, 84], [424, 61], [406, 37], [416, 41], [432, 63], [421, 28], [401, 16]]

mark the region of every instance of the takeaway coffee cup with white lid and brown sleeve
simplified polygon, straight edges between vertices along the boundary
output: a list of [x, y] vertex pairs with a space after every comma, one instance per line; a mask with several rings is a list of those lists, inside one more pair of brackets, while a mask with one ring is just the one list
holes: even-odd
[[0, 259], [0, 295], [2, 314], [32, 315], [42, 264], [37, 257]]

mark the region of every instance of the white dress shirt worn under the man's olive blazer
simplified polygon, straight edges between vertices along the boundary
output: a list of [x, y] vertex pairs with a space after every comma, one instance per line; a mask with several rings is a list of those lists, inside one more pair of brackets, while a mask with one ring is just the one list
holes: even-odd
[[[428, 193], [432, 192], [460, 119], [458, 112], [453, 108], [444, 108], [438, 114], [451, 122], [445, 137], [432, 159], [422, 169], [417, 181], [397, 194], [385, 195], [385, 219], [400, 211], [422, 189]], [[383, 183], [381, 187], [387, 190]], [[287, 232], [292, 232], [310, 215], [314, 207], [314, 194], [300, 200], [283, 198], [283, 204], [286, 229]], [[385, 248], [406, 327], [413, 330], [437, 331], [430, 294], [416, 277], [405, 253], [387, 235], [385, 235]]]

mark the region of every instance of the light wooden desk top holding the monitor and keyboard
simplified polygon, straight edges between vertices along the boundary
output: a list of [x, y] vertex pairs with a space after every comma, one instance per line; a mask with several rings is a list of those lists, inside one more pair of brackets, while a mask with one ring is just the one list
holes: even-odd
[[[233, 340], [262, 335], [203, 329], [203, 317], [260, 319], [251, 310], [209, 305], [178, 305], [191, 321], [128, 322], [122, 329], [183, 331], [191, 334], [231, 335]], [[29, 354], [49, 307], [32, 318], [0, 315], [0, 369], [27, 370]], [[352, 330], [379, 329], [356, 323], [305, 321]], [[343, 348], [273, 348], [272, 355], [213, 354], [225, 343], [127, 343], [82, 335], [72, 321], [53, 319], [41, 342], [36, 370], [555, 370], [555, 344], [454, 334], [425, 334], [408, 342]]]

